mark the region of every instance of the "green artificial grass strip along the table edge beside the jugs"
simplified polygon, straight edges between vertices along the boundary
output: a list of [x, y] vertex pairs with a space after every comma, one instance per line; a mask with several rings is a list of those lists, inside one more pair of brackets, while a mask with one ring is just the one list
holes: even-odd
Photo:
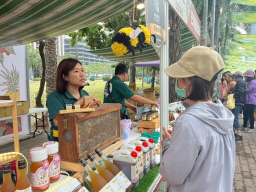
[[130, 192], [145, 192], [148, 191], [148, 188], [151, 186], [154, 179], [159, 174], [159, 164], [156, 164], [148, 173], [139, 180], [138, 186], [136, 189], [131, 189]]

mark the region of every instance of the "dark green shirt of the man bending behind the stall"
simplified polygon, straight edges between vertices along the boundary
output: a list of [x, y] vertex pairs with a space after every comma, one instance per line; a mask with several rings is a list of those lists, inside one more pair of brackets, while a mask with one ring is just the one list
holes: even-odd
[[[121, 108], [121, 113], [123, 114], [125, 111], [125, 99], [129, 99], [134, 95], [134, 92], [130, 90], [127, 84], [122, 82], [122, 80], [118, 76], [113, 76], [110, 79], [109, 83], [109, 92], [111, 93], [112, 97], [117, 103], [121, 103], [122, 108]], [[105, 84], [104, 88], [104, 103], [113, 103], [110, 100], [110, 97], [107, 92], [107, 83]]]

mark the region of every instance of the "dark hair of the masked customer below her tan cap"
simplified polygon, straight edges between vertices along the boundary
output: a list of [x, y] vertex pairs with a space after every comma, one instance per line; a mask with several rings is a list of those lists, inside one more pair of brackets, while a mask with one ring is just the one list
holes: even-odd
[[198, 76], [192, 76], [189, 78], [192, 90], [189, 96], [190, 100], [210, 100], [213, 94], [214, 81], [208, 81]]

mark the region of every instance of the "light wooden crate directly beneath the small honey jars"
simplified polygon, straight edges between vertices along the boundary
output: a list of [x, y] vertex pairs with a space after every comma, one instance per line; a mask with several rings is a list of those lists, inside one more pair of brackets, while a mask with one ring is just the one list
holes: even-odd
[[138, 126], [137, 132], [151, 133], [152, 131], [155, 131], [155, 129], [160, 126], [160, 118], [155, 118], [152, 121], [139, 120], [137, 126]]

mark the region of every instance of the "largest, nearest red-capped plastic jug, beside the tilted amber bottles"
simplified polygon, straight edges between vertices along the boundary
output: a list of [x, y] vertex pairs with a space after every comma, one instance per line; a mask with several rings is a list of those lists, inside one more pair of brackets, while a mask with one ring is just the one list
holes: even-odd
[[116, 164], [132, 183], [135, 189], [139, 183], [139, 168], [137, 165], [137, 152], [129, 150], [117, 150], [113, 155], [113, 163]]

